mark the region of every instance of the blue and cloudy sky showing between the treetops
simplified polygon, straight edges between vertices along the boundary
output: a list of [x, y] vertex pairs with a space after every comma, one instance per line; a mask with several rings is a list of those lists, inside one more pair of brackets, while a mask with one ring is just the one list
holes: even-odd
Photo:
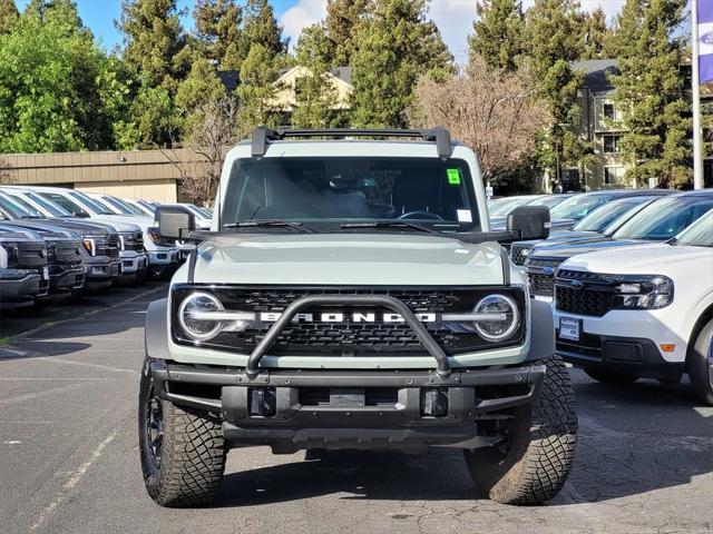
[[[20, 10], [25, 9], [29, 0], [16, 0]], [[582, 7], [592, 11], [604, 8], [612, 19], [622, 8], [625, 0], [580, 0]], [[107, 50], [121, 44], [121, 36], [114, 21], [121, 16], [120, 0], [78, 0], [79, 16], [84, 23], [102, 42]], [[184, 23], [192, 27], [191, 11], [193, 0], [178, 0], [179, 8], [185, 8], [188, 16]], [[284, 33], [294, 44], [302, 28], [318, 22], [326, 13], [326, 0], [271, 0], [275, 16], [284, 28]], [[525, 0], [525, 8], [533, 0]], [[431, 0], [429, 18], [433, 19], [441, 31], [443, 40], [450, 48], [458, 62], [467, 57], [468, 34], [472, 31], [476, 17], [476, 0]]]

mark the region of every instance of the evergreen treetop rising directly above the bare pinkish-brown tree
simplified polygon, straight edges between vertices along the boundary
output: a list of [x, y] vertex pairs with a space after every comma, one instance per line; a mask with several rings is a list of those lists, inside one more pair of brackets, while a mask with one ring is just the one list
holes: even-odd
[[517, 69], [522, 52], [525, 21], [520, 0], [481, 0], [476, 4], [477, 19], [469, 37], [470, 53], [490, 67]]

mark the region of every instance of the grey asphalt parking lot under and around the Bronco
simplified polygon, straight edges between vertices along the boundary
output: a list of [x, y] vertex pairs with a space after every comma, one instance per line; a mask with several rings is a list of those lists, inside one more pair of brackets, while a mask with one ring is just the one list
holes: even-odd
[[[136, 399], [145, 310], [165, 287], [121, 289], [120, 304], [85, 303], [0, 348], [3, 533], [713, 531], [713, 408], [687, 386], [611, 387], [578, 370], [577, 461], [546, 506], [478, 498], [461, 454], [449, 449], [411, 457], [245, 448], [228, 455], [215, 506], [160, 508], [143, 487]], [[20, 319], [3, 317], [2, 335], [28, 330]]]

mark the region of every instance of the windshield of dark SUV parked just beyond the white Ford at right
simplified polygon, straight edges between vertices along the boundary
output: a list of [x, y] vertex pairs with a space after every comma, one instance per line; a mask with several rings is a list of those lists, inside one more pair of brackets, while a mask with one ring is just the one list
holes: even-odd
[[642, 209], [612, 237], [652, 241], [671, 239], [711, 208], [713, 208], [713, 195], [664, 197]]

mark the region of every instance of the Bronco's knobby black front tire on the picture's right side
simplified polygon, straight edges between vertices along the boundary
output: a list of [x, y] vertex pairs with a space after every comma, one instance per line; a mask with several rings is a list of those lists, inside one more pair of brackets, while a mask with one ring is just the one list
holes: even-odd
[[495, 447], [465, 451], [476, 486], [502, 504], [533, 505], [553, 498], [572, 468], [577, 441], [577, 409], [569, 373], [559, 356], [546, 365], [539, 398], [515, 408], [514, 432], [504, 456]]

